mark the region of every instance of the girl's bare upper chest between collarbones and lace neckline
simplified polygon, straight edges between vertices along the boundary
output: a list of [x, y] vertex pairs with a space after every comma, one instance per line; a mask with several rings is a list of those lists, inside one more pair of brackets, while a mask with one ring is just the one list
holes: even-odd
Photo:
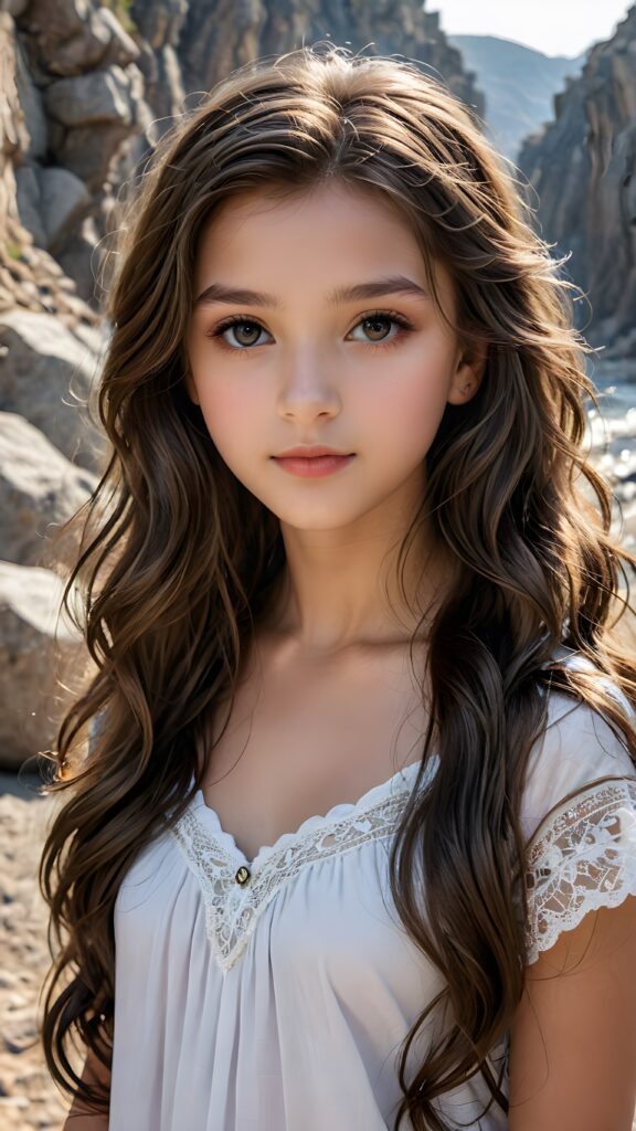
[[212, 724], [204, 798], [248, 860], [421, 758], [427, 710], [403, 649], [293, 659], [263, 653]]

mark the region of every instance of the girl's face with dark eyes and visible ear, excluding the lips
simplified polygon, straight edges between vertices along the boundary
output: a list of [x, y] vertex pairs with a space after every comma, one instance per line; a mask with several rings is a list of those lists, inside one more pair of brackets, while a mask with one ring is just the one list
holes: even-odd
[[[454, 317], [450, 279], [436, 278]], [[233, 198], [201, 233], [194, 282], [186, 385], [237, 478], [296, 529], [410, 518], [446, 404], [469, 400], [481, 369], [436, 313], [390, 205], [340, 182]], [[298, 444], [353, 458], [299, 477], [274, 458]]]

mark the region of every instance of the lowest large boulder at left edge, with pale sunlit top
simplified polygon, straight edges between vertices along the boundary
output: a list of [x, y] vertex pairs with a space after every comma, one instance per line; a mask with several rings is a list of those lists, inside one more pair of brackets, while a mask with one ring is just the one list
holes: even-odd
[[59, 615], [63, 584], [50, 570], [0, 562], [0, 767], [51, 749], [62, 711], [58, 679], [83, 663], [77, 629]]

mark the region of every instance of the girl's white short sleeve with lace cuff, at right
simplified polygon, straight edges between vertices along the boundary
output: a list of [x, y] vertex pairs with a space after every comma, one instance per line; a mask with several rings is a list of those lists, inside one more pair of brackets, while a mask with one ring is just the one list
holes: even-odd
[[522, 827], [532, 964], [587, 913], [636, 896], [636, 766], [610, 724], [562, 692], [531, 753]]

